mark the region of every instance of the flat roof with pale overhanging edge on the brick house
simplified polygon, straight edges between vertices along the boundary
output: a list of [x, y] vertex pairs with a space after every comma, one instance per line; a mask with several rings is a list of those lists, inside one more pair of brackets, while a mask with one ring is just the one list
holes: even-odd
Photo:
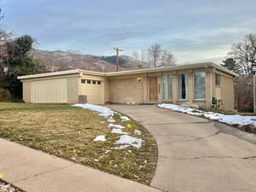
[[128, 71], [120, 71], [120, 72], [110, 72], [110, 73], [101, 73], [101, 72], [93, 72], [93, 71], [75, 69], [75, 70], [67, 70], [67, 71], [61, 71], [61, 72], [40, 73], [40, 74], [19, 76], [18, 79], [36, 79], [36, 78], [44, 78], [44, 77], [59, 76], [59, 75], [80, 74], [80, 73], [112, 77], [112, 76], [127, 75], [127, 74], [155, 73], [155, 72], [165, 72], [165, 71], [181, 70], [181, 69], [189, 69], [189, 68], [199, 68], [199, 67], [206, 67], [206, 68], [213, 67], [213, 68], [217, 68], [219, 71], [228, 73], [231, 76], [234, 76], [234, 77], [238, 76], [236, 73], [233, 73], [224, 67], [220, 67], [215, 63], [203, 62], [203, 63], [195, 63], [195, 64], [189, 64], [189, 65], [177, 65], [177, 66], [159, 67], [159, 68], [144, 68], [144, 69], [136, 69], [136, 70], [128, 70]]

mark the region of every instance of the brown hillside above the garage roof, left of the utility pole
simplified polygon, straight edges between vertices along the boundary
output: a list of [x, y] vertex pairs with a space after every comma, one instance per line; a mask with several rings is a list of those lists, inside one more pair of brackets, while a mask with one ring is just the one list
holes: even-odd
[[[42, 63], [50, 72], [78, 68], [95, 72], [114, 72], [116, 70], [116, 66], [111, 62], [97, 59], [92, 55], [77, 54], [73, 51], [32, 49], [28, 55]], [[123, 71], [125, 68], [119, 67], [119, 70]]]

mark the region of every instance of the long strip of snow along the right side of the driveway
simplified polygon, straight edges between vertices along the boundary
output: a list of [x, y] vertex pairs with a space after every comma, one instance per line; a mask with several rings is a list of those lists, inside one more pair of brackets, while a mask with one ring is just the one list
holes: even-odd
[[201, 110], [195, 110], [193, 108], [184, 108], [182, 106], [174, 105], [174, 104], [159, 104], [158, 107], [166, 108], [173, 111], [178, 111], [182, 113], [188, 113], [196, 116], [202, 116], [207, 119], [218, 120], [221, 123], [229, 124], [229, 125], [253, 125], [256, 127], [256, 116], [242, 116], [240, 114], [221, 114], [221, 113], [212, 113], [212, 112], [204, 112]]

